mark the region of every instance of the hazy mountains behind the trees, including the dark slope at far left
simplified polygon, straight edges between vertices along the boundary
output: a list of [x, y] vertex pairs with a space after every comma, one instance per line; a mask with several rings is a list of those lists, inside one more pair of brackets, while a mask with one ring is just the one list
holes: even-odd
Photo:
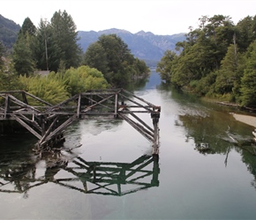
[[[11, 49], [14, 44], [20, 26], [8, 18], [0, 15], [0, 41], [4, 43], [4, 47]], [[177, 33], [172, 35], [155, 35], [151, 32], [140, 31], [139, 33], [130, 33], [125, 30], [112, 28], [99, 32], [78, 32], [78, 44], [85, 52], [91, 43], [94, 43], [102, 34], [115, 33], [124, 43], [130, 48], [132, 55], [144, 60], [149, 67], [155, 67], [164, 55], [164, 52], [169, 49], [174, 51], [177, 41], [185, 39], [185, 33]]]

